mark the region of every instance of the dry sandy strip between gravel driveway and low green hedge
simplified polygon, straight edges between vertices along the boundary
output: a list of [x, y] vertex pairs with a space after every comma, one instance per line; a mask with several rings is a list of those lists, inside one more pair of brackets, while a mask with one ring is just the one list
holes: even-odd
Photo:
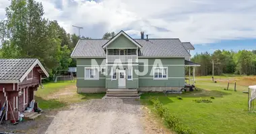
[[141, 118], [141, 122], [143, 124], [143, 131], [147, 134], [172, 134], [173, 132], [170, 131], [170, 129], [167, 129], [164, 127], [164, 123], [154, 115], [154, 113], [151, 113], [150, 109], [148, 107], [142, 107], [143, 108], [143, 117]]

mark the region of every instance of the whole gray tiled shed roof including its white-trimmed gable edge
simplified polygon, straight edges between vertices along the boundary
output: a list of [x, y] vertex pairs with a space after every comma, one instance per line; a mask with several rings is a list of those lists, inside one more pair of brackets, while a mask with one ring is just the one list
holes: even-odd
[[35, 58], [0, 59], [0, 83], [22, 82], [36, 65], [40, 66], [47, 77], [49, 76], [39, 60]]

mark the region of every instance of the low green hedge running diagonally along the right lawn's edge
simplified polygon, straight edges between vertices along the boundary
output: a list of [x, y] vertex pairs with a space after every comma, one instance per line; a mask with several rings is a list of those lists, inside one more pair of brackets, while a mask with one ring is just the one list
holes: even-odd
[[150, 102], [153, 103], [156, 113], [158, 113], [158, 115], [164, 119], [170, 129], [175, 131], [177, 134], [193, 134], [193, 131], [183, 126], [183, 123], [181, 123], [181, 121], [179, 121], [175, 115], [172, 115], [168, 109], [162, 106], [162, 103], [160, 103], [158, 98], [151, 97]]

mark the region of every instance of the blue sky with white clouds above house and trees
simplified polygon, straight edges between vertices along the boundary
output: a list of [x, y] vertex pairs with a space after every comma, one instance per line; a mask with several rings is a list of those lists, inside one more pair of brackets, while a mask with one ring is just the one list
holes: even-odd
[[[82, 36], [101, 38], [124, 30], [132, 37], [145, 31], [150, 38], [179, 38], [196, 52], [256, 49], [255, 0], [36, 0], [44, 16], [67, 32], [84, 27]], [[0, 0], [0, 19], [10, 1]]]

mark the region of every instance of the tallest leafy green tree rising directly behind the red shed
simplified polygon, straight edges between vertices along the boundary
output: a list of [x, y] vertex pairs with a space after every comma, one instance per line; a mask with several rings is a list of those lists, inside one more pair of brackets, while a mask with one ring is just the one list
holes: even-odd
[[12, 0], [1, 21], [4, 58], [38, 58], [46, 68], [58, 66], [61, 39], [55, 21], [43, 18], [42, 3]]

